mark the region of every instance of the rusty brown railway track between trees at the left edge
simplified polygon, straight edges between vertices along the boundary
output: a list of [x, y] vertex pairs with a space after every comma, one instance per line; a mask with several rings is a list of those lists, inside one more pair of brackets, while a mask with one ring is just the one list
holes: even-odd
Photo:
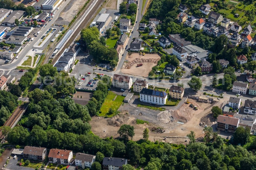
[[[26, 110], [27, 104], [23, 104], [22, 106], [18, 106], [12, 115], [6, 120], [3, 126], [12, 126], [15, 124], [16, 120], [20, 117], [20, 115]], [[2, 128], [0, 129], [0, 139], [3, 139], [4, 135], [2, 133]]]

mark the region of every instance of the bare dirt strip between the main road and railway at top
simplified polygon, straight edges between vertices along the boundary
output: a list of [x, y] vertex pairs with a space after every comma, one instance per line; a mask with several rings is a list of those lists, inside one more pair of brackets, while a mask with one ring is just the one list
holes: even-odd
[[61, 11], [56, 24], [68, 25], [77, 15], [78, 11], [84, 6], [87, 0], [73, 0]]

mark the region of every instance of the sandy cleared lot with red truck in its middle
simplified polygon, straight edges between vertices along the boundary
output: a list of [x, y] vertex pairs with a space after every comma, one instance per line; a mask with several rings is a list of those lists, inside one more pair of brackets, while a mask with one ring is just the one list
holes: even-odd
[[[133, 53], [126, 57], [124, 67], [121, 69], [123, 74], [129, 74], [134, 76], [147, 77], [153, 66], [157, 65], [157, 61], [161, 57], [157, 54], [145, 54], [144, 56], [138, 53]], [[137, 64], [142, 63], [143, 66], [137, 67]]]

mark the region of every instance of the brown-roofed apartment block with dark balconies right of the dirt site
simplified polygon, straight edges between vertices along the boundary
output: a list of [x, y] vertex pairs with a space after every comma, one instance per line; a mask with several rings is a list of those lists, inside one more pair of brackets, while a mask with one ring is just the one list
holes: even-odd
[[219, 115], [217, 119], [217, 130], [234, 133], [239, 124], [239, 118]]

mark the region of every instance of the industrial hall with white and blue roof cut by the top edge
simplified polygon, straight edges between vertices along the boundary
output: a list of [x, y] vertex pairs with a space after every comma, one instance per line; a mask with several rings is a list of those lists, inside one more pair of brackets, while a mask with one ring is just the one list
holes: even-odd
[[34, 8], [36, 10], [43, 9], [43, 10], [53, 10], [56, 8], [62, 0], [40, 0], [35, 5]]

